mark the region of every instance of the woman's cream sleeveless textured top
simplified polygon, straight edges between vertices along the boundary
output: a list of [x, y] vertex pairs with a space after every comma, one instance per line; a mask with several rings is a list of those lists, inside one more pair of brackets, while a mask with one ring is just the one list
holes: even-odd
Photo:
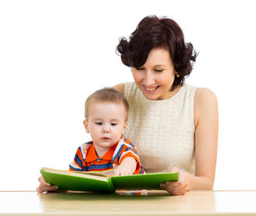
[[195, 175], [195, 92], [184, 84], [169, 99], [149, 100], [133, 82], [124, 84], [129, 116], [123, 137], [136, 145], [146, 173], [177, 166]]

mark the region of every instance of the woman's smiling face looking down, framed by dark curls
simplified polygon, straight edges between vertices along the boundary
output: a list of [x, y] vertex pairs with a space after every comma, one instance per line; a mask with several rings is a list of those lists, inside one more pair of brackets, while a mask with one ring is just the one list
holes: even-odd
[[151, 49], [142, 67], [133, 67], [135, 84], [149, 100], [165, 100], [173, 95], [169, 89], [175, 79], [175, 69], [166, 49]]

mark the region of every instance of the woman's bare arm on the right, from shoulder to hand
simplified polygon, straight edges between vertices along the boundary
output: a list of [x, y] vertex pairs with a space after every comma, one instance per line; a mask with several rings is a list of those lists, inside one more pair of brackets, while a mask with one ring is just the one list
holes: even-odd
[[206, 88], [197, 88], [194, 100], [196, 174], [190, 175], [177, 167], [178, 182], [161, 184], [172, 194], [185, 194], [189, 190], [212, 190], [218, 140], [218, 105], [215, 94]]

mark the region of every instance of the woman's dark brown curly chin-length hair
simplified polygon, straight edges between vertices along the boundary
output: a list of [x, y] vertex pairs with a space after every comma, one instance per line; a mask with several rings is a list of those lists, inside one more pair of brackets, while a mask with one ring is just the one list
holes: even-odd
[[182, 85], [196, 61], [197, 52], [191, 43], [185, 43], [183, 31], [172, 19], [155, 15], [146, 16], [131, 34], [130, 40], [121, 38], [116, 51], [121, 55], [123, 64], [128, 67], [142, 67], [151, 49], [159, 48], [169, 51], [175, 71], [174, 83], [170, 89]]

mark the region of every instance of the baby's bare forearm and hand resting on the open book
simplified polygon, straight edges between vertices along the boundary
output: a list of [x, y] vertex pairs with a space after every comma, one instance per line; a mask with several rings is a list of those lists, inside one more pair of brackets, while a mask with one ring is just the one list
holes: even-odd
[[125, 157], [120, 166], [114, 169], [114, 175], [133, 175], [137, 161], [133, 157]]

